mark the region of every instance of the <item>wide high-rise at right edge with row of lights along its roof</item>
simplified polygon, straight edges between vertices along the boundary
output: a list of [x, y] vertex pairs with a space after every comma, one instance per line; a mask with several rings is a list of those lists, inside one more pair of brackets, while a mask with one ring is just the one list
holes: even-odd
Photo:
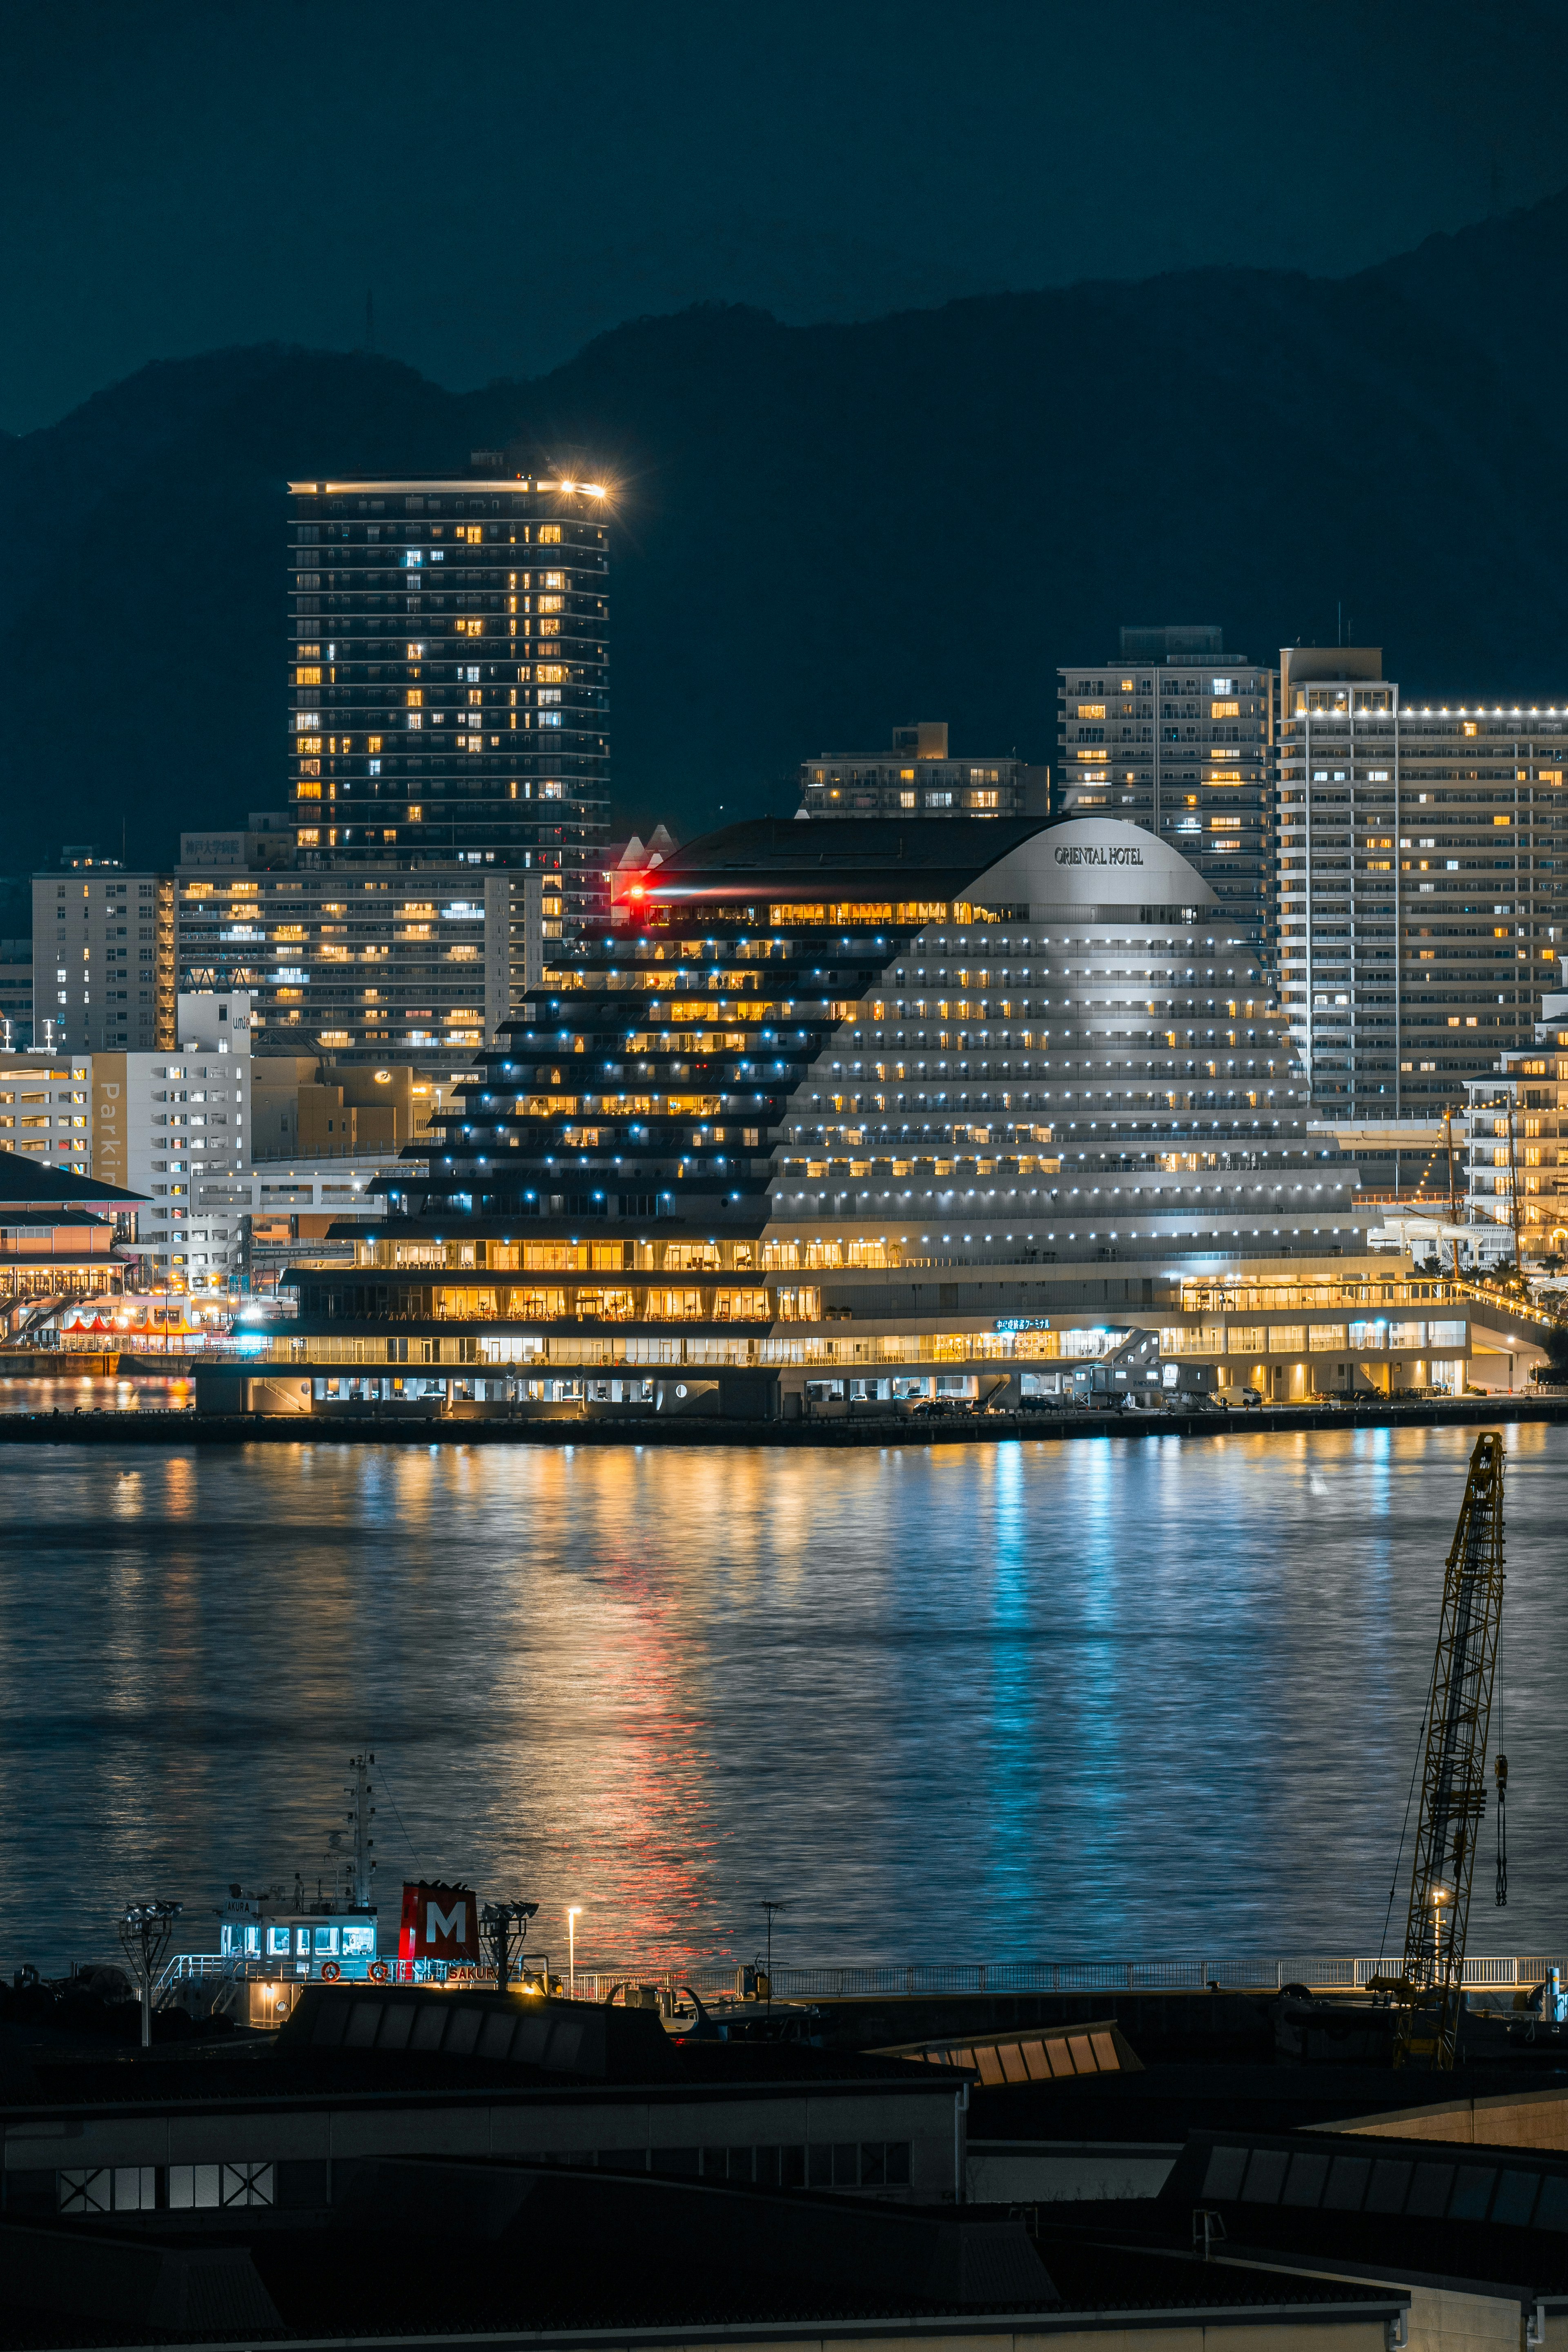
[[1563, 946], [1566, 748], [1568, 703], [1408, 703], [1378, 647], [1281, 654], [1279, 969], [1319, 1105], [1434, 1117], [1530, 1044]]

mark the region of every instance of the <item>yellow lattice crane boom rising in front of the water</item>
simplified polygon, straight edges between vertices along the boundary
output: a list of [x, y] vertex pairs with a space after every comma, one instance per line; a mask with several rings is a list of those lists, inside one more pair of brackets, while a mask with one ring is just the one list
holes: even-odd
[[1483, 1430], [1469, 1456], [1432, 1661], [1410, 1915], [1403, 1969], [1389, 1987], [1399, 2004], [1394, 2065], [1450, 2067], [1455, 2056], [1500, 1628], [1502, 1430]]

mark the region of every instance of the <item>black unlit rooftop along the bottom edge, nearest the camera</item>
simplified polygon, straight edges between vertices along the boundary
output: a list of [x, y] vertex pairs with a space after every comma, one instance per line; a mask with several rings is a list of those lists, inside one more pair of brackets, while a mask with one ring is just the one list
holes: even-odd
[[1269, 2317], [1396, 2319], [1401, 2296], [1060, 2241], [1001, 2209], [907, 2211], [524, 2164], [381, 2159], [322, 2227], [0, 2227], [0, 2345], [193, 2340], [538, 2345], [670, 2331], [729, 2338], [1072, 2333]]

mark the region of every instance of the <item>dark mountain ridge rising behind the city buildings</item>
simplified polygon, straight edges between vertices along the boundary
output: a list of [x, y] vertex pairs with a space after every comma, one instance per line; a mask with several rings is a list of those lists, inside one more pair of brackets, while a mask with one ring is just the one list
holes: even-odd
[[592, 454], [621, 485], [618, 809], [795, 804], [795, 762], [947, 717], [1053, 757], [1119, 621], [1349, 630], [1408, 691], [1568, 699], [1568, 198], [1349, 280], [1206, 270], [780, 327], [632, 320], [534, 383], [226, 350], [0, 442], [5, 868], [172, 854], [282, 797], [289, 473]]

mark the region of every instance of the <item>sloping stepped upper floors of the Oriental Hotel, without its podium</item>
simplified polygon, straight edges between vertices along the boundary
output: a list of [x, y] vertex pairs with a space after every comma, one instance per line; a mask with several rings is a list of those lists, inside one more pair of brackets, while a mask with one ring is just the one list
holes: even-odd
[[954, 1221], [1074, 1261], [1352, 1240], [1258, 941], [1133, 826], [762, 821], [635, 891], [390, 1183], [393, 1247], [498, 1221], [750, 1242], [759, 1270]]

